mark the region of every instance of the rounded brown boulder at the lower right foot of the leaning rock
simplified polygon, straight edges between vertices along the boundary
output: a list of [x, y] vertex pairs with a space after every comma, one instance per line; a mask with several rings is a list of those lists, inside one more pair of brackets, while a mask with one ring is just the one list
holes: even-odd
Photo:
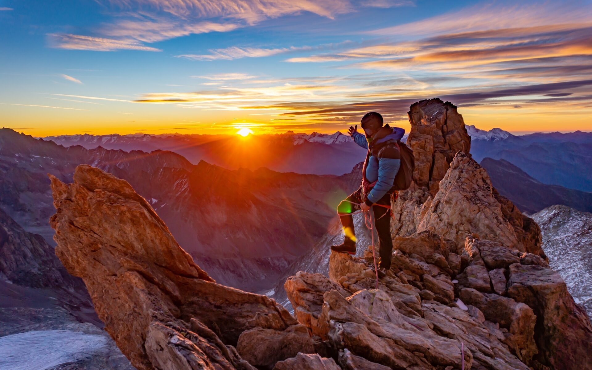
[[300, 352], [314, 353], [313, 340], [302, 324], [282, 331], [261, 327], [245, 330], [240, 334], [236, 350], [251, 365], [268, 369]]

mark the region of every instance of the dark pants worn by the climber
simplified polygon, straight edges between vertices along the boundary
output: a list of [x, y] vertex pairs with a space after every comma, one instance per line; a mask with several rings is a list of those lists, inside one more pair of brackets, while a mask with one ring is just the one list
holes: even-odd
[[[345, 237], [355, 242], [355, 230], [353, 226], [352, 213], [358, 211], [362, 203], [362, 188], [349, 195], [337, 206], [337, 213], [341, 219], [343, 225], [343, 231]], [[358, 204], [353, 204], [353, 203]], [[376, 204], [391, 205], [391, 194], [386, 194]], [[380, 263], [379, 267], [390, 269], [391, 268], [391, 253], [392, 253], [392, 239], [391, 239], [391, 213], [390, 208], [381, 207], [379, 205], [373, 205], [372, 211], [374, 213], [374, 227], [378, 232], [378, 247], [380, 249]]]

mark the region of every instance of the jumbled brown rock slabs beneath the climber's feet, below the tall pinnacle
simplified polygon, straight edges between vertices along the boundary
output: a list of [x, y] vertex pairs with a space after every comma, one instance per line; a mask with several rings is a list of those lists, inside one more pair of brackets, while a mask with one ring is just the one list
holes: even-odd
[[[471, 237], [456, 249], [429, 231], [397, 245], [378, 289], [371, 252], [333, 253], [330, 278], [298, 272], [285, 284], [316, 348], [343, 369], [568, 369], [592, 360], [590, 321], [538, 256]], [[501, 269], [509, 280], [498, 294], [488, 273]]]

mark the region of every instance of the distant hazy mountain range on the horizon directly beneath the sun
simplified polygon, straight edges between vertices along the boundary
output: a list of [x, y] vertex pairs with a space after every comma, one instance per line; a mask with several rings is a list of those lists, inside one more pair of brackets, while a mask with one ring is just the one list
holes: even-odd
[[[365, 150], [339, 131], [334, 134], [238, 135], [72, 135], [45, 137], [69, 147], [86, 149], [101, 146], [114, 150], [169, 150], [197, 164], [200, 160], [227, 169], [269, 168], [279, 172], [343, 175], [363, 159]], [[314, 159], [314, 160], [313, 160]]]

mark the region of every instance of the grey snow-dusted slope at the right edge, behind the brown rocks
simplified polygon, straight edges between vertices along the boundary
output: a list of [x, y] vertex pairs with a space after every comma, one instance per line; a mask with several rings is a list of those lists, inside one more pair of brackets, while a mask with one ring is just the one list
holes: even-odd
[[565, 280], [575, 303], [592, 317], [592, 213], [552, 205], [532, 218], [543, 233], [549, 265]]

